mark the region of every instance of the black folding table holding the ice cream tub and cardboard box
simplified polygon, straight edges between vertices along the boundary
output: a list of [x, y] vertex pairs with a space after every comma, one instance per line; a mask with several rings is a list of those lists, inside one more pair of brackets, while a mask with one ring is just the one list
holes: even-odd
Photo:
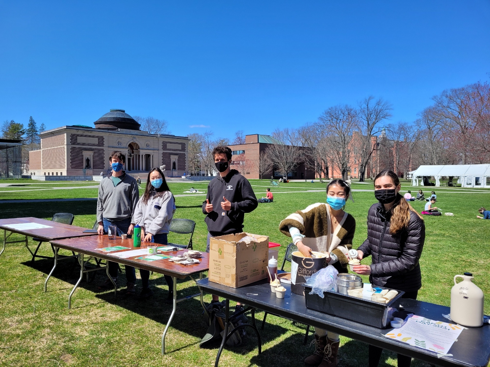
[[[429, 350], [417, 348], [385, 337], [384, 334], [387, 334], [391, 329], [378, 329], [359, 322], [349, 321], [307, 309], [305, 298], [291, 293], [290, 286], [287, 284], [282, 284], [287, 289], [285, 298], [283, 299], [276, 298], [275, 294], [270, 291], [270, 285], [267, 279], [240, 288], [231, 288], [213, 283], [208, 278], [198, 280], [197, 285], [203, 291], [226, 298], [227, 300], [225, 332], [223, 333], [223, 340], [216, 357], [215, 367], [218, 367], [221, 351], [225, 345], [225, 337], [228, 334], [230, 299], [246, 304], [253, 312], [255, 309], [264, 310], [277, 316], [326, 329], [348, 338], [392, 350], [395, 353], [410, 356], [436, 366], [484, 367], [487, 366], [490, 359], [490, 325], [488, 323], [481, 327], [465, 328], [460, 334], [458, 341], [452, 345], [448, 352], [452, 356], [441, 356], [438, 358], [436, 353]], [[431, 320], [448, 322], [442, 315], [449, 314], [449, 307], [407, 298], [400, 299], [400, 305], [405, 311], [415, 315]], [[251, 326], [255, 329], [260, 344], [260, 336], [254, 327], [254, 321]], [[261, 349], [259, 346], [260, 352]]]

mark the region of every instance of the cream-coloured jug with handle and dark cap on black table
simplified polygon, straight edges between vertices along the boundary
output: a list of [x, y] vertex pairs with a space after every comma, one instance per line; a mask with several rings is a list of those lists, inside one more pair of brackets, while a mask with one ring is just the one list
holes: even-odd
[[[458, 277], [463, 281], [456, 283]], [[463, 326], [482, 326], [483, 299], [483, 291], [473, 283], [471, 273], [455, 275], [451, 289], [451, 320]]]

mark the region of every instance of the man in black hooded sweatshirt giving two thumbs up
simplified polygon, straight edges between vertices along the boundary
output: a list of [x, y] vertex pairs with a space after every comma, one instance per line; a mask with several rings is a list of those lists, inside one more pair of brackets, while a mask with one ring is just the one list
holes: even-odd
[[[252, 186], [245, 177], [235, 169], [230, 169], [231, 149], [217, 146], [213, 149], [216, 169], [220, 172], [208, 185], [206, 201], [202, 203], [202, 212], [207, 214], [208, 244], [209, 239], [230, 233], [243, 232], [245, 213], [250, 213], [258, 206]], [[218, 301], [213, 295], [213, 301]], [[237, 303], [236, 311], [243, 310]]]

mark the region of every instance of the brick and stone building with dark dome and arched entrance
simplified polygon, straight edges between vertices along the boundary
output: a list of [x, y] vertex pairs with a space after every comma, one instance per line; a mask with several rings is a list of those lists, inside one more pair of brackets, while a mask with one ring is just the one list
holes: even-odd
[[189, 138], [149, 134], [140, 130], [140, 124], [120, 109], [110, 110], [94, 125], [43, 131], [41, 148], [29, 152], [32, 178], [88, 180], [100, 173], [105, 175], [110, 169], [109, 155], [114, 150], [125, 155], [124, 170], [131, 176], [146, 179], [151, 168], [161, 165], [166, 166], [167, 177], [180, 177], [187, 172]]

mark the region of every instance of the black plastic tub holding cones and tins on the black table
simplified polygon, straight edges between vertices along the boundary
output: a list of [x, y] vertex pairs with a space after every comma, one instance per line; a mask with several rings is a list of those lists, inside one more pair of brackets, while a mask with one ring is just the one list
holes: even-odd
[[[395, 307], [399, 309], [399, 299], [405, 293], [394, 289], [398, 294], [389, 303], [378, 303], [364, 298], [357, 298], [342, 293], [326, 291], [324, 297], [310, 295], [311, 287], [305, 287], [306, 308], [323, 312], [325, 314], [341, 317], [343, 319], [356, 321], [365, 325], [374, 326], [379, 329], [390, 327], [388, 320], [388, 309]], [[381, 289], [389, 289], [376, 287]]]

